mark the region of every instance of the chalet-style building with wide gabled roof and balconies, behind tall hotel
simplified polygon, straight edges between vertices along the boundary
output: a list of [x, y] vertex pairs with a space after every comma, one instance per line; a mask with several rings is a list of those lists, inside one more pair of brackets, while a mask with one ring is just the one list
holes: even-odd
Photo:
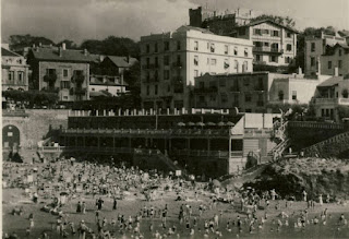
[[288, 67], [297, 55], [298, 32], [270, 20], [252, 22], [239, 26], [231, 34], [233, 37], [253, 41], [253, 68], [264, 65]]

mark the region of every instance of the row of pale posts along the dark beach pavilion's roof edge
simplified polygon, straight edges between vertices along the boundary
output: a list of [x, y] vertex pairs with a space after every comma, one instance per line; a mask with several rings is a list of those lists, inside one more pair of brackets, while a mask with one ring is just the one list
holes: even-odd
[[109, 117], [109, 116], [170, 116], [170, 115], [193, 115], [193, 113], [220, 113], [229, 115], [229, 109], [204, 109], [204, 108], [191, 108], [185, 109], [118, 109], [118, 110], [69, 110], [68, 116], [70, 117]]

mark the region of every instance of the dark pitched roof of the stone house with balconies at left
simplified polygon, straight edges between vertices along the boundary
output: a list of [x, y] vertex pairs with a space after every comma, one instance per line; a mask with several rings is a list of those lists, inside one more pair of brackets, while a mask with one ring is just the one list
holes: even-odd
[[59, 55], [59, 48], [37, 48], [33, 49], [34, 58], [37, 60], [47, 61], [69, 61], [69, 62], [96, 62], [96, 55], [87, 52], [85, 56], [84, 50], [62, 50], [62, 55]]

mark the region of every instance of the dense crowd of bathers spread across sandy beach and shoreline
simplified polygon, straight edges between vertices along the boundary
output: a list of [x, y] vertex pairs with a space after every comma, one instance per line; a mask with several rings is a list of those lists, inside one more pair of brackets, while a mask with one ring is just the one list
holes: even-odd
[[[135, 239], [148, 238], [148, 235], [154, 238], [188, 238], [195, 235], [198, 238], [220, 238], [226, 235], [240, 237], [242, 232], [262, 231], [266, 224], [272, 225], [268, 226], [270, 231], [292, 226], [294, 230], [303, 230], [308, 225], [325, 226], [332, 216], [327, 208], [322, 208], [318, 215], [310, 216], [315, 206], [329, 202], [329, 195], [323, 200], [321, 194], [315, 202], [309, 199], [305, 190], [298, 195], [306, 202], [305, 208], [287, 214], [286, 211], [292, 211], [296, 196], [281, 199], [274, 189], [257, 192], [250, 187], [221, 187], [214, 184], [213, 180], [188, 181], [156, 170], [77, 163], [74, 158], [60, 158], [40, 165], [4, 164], [3, 179], [5, 188], [24, 189], [25, 195], [34, 204], [44, 202], [40, 210], [56, 218], [51, 231], [43, 231], [39, 238], [110, 239], [130, 236]], [[173, 195], [173, 201], [180, 201], [177, 210], [170, 211], [168, 204], [157, 204], [157, 200], [168, 194]], [[122, 214], [119, 204], [125, 199], [133, 199], [143, 206], [134, 215]], [[92, 201], [95, 202], [94, 206], [91, 206]], [[107, 201], [111, 201], [112, 206], [107, 208]], [[65, 205], [76, 206], [79, 222], [69, 217]], [[234, 216], [231, 217], [225, 208], [229, 208]], [[113, 212], [115, 216], [108, 219], [105, 216], [107, 212]], [[276, 216], [268, 212], [274, 212]], [[15, 206], [11, 214], [27, 216], [23, 206]], [[95, 225], [86, 223], [92, 215]], [[31, 236], [34, 228], [38, 227], [36, 213], [31, 213], [27, 218], [26, 235]], [[338, 218], [337, 226], [347, 226], [344, 214]], [[3, 238], [19, 236], [12, 232], [4, 234]]]

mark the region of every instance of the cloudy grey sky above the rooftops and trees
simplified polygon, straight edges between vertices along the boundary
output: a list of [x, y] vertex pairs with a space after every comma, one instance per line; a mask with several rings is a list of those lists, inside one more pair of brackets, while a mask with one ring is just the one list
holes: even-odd
[[252, 9], [291, 16], [296, 28], [349, 29], [349, 0], [2, 0], [1, 41], [10, 35], [45, 36], [58, 43], [123, 36], [139, 40], [189, 24], [189, 9]]

